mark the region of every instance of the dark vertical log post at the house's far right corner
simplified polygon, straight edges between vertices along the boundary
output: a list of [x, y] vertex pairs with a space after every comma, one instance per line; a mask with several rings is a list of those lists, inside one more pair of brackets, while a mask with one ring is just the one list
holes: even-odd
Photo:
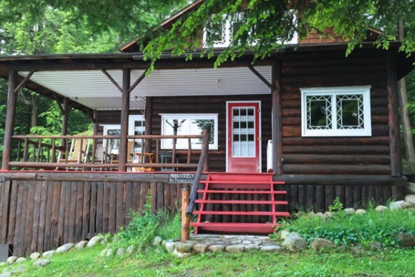
[[396, 79], [396, 55], [387, 53], [387, 108], [389, 121], [389, 150], [391, 156], [391, 176], [402, 176], [400, 153], [400, 115], [398, 111], [398, 80]]

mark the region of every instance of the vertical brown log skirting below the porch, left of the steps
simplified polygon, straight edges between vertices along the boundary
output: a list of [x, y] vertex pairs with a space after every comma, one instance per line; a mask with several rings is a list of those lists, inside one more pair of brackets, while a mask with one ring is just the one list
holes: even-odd
[[114, 233], [129, 211], [143, 211], [150, 191], [152, 211], [176, 211], [183, 184], [160, 182], [35, 181], [0, 183], [0, 243], [13, 256], [56, 249], [68, 242]]

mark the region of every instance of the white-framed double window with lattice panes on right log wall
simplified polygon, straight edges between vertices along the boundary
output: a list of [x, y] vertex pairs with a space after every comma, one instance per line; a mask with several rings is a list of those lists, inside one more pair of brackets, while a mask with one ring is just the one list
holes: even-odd
[[370, 86], [301, 89], [302, 136], [371, 136]]

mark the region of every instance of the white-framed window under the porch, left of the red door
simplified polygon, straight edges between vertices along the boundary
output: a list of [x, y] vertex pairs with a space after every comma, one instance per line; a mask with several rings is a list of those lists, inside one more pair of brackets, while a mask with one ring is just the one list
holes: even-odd
[[[210, 132], [209, 149], [218, 149], [218, 114], [160, 114], [161, 134], [201, 135], [203, 129]], [[192, 139], [192, 149], [201, 149], [202, 140]], [[187, 139], [177, 139], [176, 149], [187, 149]], [[172, 149], [172, 139], [162, 139], [162, 149]]]

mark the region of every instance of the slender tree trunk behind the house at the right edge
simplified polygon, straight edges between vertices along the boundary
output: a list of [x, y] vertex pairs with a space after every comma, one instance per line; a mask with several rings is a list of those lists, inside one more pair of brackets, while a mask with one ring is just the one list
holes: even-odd
[[[398, 39], [402, 41], [405, 37], [404, 26], [402, 19], [398, 21]], [[415, 150], [414, 150], [414, 139], [412, 138], [412, 126], [411, 120], [409, 119], [409, 111], [405, 108], [407, 100], [407, 86], [406, 78], [403, 77], [398, 81], [399, 89], [399, 108], [400, 108], [400, 118], [402, 118], [402, 129], [403, 129], [403, 141], [405, 142], [405, 154], [407, 161], [409, 163], [415, 162]]]

